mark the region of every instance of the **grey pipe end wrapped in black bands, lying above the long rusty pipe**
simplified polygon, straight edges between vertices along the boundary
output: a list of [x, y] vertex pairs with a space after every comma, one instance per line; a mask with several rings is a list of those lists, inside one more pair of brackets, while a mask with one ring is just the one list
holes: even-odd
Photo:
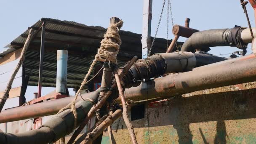
[[[195, 67], [212, 64], [227, 58], [192, 52], [157, 53], [147, 59], [137, 60], [123, 77], [125, 87], [136, 86], [138, 80], [150, 79], [172, 72], [190, 71]], [[133, 83], [134, 82], [134, 83]], [[140, 83], [140, 82], [139, 82]]]

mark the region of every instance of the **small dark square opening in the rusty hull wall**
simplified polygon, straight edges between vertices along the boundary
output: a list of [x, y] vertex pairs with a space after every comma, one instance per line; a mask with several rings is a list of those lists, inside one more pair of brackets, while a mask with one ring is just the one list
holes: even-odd
[[145, 104], [131, 107], [131, 120], [139, 120], [145, 117]]

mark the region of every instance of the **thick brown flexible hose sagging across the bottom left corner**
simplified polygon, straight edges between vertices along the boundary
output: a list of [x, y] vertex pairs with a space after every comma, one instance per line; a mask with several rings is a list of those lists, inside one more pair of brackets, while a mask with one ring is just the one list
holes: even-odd
[[[77, 124], [81, 123], [93, 104], [97, 101], [98, 95], [89, 96], [92, 101], [80, 100], [76, 103]], [[58, 103], [56, 103], [58, 104]], [[38, 129], [23, 133], [0, 132], [0, 144], [48, 144], [55, 142], [74, 130], [74, 115], [67, 109], [48, 120]]]

